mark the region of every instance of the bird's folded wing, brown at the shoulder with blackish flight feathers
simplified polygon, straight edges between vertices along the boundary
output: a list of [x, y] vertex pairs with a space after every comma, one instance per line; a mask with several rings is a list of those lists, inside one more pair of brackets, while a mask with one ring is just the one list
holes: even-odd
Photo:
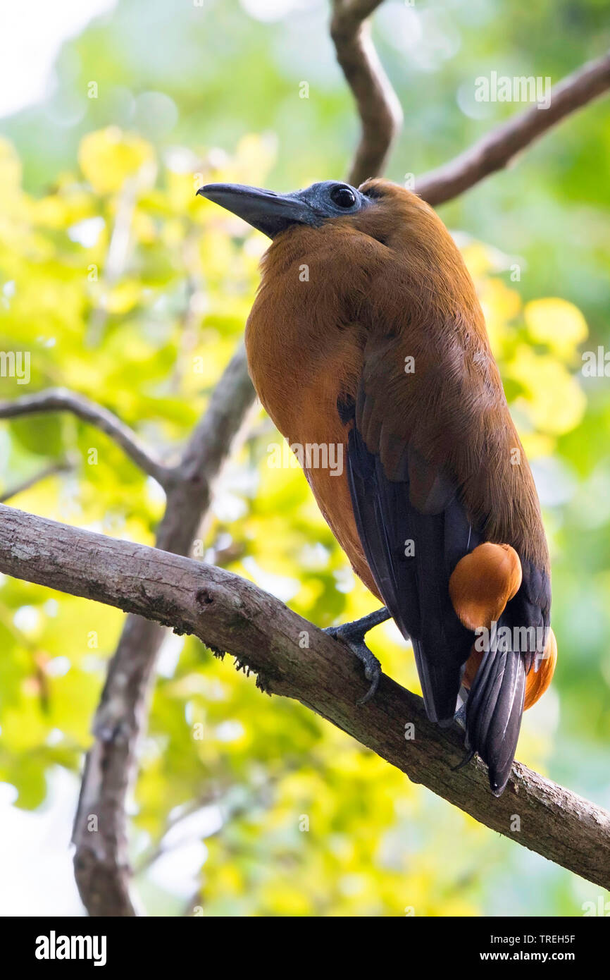
[[366, 560], [399, 629], [411, 638], [426, 710], [444, 721], [455, 711], [474, 639], [453, 610], [448, 579], [481, 537], [454, 475], [433, 462], [436, 447], [427, 444], [437, 439], [439, 419], [428, 423], [443, 377], [435, 379], [441, 366], [424, 365], [423, 357], [406, 374], [396, 337], [369, 341], [355, 400], [342, 411], [344, 420], [352, 417], [348, 477]]

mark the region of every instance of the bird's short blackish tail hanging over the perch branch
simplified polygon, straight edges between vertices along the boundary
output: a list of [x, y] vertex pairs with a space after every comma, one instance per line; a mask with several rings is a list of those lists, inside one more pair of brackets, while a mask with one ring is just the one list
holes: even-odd
[[[503, 637], [498, 621], [497, 634]], [[477, 752], [490, 770], [490, 786], [499, 796], [508, 782], [517, 749], [526, 690], [526, 656], [508, 640], [489, 644], [466, 703], [466, 748]]]

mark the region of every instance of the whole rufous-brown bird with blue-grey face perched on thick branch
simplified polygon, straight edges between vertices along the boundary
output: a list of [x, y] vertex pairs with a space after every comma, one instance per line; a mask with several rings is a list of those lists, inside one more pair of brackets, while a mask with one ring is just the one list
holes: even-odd
[[[477, 754], [499, 796], [557, 647], [536, 485], [453, 238], [415, 192], [379, 177], [197, 193], [271, 239], [248, 365], [262, 406], [302, 448], [354, 572], [383, 603], [330, 630], [364, 664], [359, 704], [381, 674], [365, 634], [392, 617], [428, 717], [461, 721], [463, 762]], [[334, 447], [341, 472], [307, 446]]]

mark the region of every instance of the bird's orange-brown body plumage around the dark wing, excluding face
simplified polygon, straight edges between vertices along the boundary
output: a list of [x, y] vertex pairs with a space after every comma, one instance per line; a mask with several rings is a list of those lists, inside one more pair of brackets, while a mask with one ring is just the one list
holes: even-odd
[[[378, 190], [378, 209], [321, 228], [294, 225], [263, 259], [246, 332], [260, 401], [291, 443], [345, 443], [337, 400], [355, 398], [366, 358], [362, 434], [390, 477], [411, 437], [430, 479], [438, 466], [458, 474], [486, 540], [548, 571], [534, 480], [463, 259], [414, 194], [379, 179], [361, 190]], [[357, 535], [351, 508], [334, 504], [340, 478], [317, 469], [307, 479], [355, 571], [370, 580], [361, 549], [346, 547]], [[427, 488], [424, 480], [420, 499]]]

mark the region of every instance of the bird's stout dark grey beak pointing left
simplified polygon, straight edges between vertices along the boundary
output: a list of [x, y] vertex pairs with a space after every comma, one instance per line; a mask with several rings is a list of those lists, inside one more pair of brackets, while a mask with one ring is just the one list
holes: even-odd
[[269, 238], [275, 238], [291, 224], [321, 223], [321, 216], [300, 197], [298, 191], [295, 194], [274, 194], [272, 190], [243, 184], [206, 184], [197, 193], [232, 211]]

